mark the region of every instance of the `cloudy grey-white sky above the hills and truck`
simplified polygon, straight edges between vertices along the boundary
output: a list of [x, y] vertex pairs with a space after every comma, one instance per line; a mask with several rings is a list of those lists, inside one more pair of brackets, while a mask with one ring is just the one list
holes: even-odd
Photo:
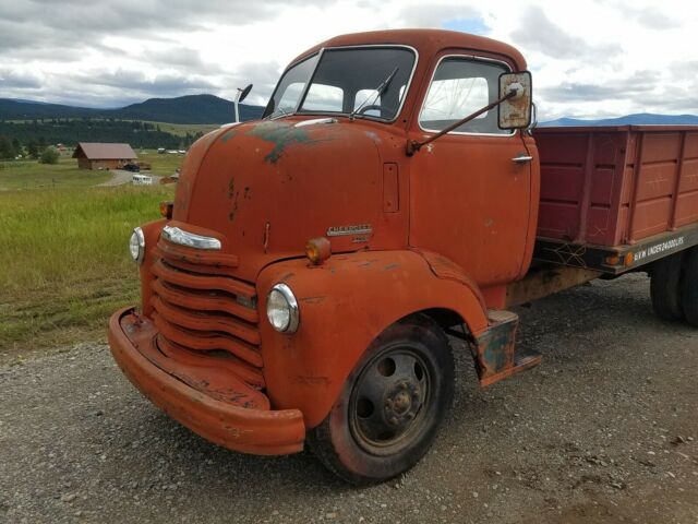
[[541, 120], [698, 115], [698, 3], [686, 0], [0, 0], [0, 98], [121, 107], [253, 83], [266, 104], [339, 34], [434, 27], [527, 58]]

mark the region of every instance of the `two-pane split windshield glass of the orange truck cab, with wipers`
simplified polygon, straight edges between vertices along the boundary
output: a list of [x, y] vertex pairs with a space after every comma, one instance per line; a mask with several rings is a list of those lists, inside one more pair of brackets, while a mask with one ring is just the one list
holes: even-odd
[[414, 60], [414, 52], [401, 47], [326, 49], [320, 61], [313, 56], [281, 76], [264, 116], [294, 112], [304, 94], [298, 112], [393, 120], [405, 98]]

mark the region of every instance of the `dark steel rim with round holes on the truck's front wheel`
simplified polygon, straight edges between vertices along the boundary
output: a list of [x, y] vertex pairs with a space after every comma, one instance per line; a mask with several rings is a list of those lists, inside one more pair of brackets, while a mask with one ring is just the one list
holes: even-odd
[[376, 355], [354, 382], [349, 425], [365, 451], [386, 455], [409, 446], [425, 427], [430, 368], [409, 346]]

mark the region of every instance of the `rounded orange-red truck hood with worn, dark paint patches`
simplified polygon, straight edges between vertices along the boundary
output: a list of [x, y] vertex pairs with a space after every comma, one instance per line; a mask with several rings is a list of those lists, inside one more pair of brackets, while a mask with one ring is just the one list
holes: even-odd
[[[239, 259], [236, 275], [251, 282], [330, 228], [344, 233], [330, 237], [333, 252], [365, 248], [382, 214], [378, 133], [358, 120], [293, 118], [214, 131], [184, 159], [173, 222], [219, 238]], [[364, 226], [372, 233], [356, 233]]]

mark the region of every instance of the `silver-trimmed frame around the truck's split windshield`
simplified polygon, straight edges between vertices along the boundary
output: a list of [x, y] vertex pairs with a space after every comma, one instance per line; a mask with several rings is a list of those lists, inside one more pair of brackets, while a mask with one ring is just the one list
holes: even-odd
[[[398, 120], [400, 118], [400, 115], [402, 112], [402, 108], [405, 107], [405, 100], [407, 100], [407, 97], [409, 95], [410, 92], [410, 87], [412, 86], [412, 80], [414, 79], [414, 72], [417, 71], [417, 66], [419, 63], [419, 51], [417, 50], [417, 48], [412, 47], [412, 46], [408, 46], [405, 44], [362, 44], [362, 45], [356, 45], [356, 46], [336, 46], [336, 47], [323, 47], [322, 49], [320, 49], [318, 51], [309, 53], [306, 56], [303, 56], [301, 59], [297, 60], [296, 62], [293, 62], [291, 66], [289, 66], [284, 73], [281, 74], [281, 76], [279, 78], [279, 81], [276, 84], [276, 88], [274, 90], [274, 93], [272, 94], [272, 97], [269, 98], [269, 103], [274, 99], [274, 96], [276, 95], [276, 91], [278, 90], [278, 86], [280, 85], [281, 79], [284, 78], [284, 75], [286, 75], [288, 73], [288, 71], [290, 71], [292, 68], [294, 68], [296, 66], [304, 62], [305, 60], [312, 58], [313, 56], [317, 55], [317, 62], [315, 62], [315, 67], [313, 68], [313, 72], [311, 73], [310, 78], [308, 79], [308, 82], [305, 83], [305, 86], [303, 87], [303, 92], [301, 93], [301, 96], [298, 98], [298, 103], [296, 104], [296, 108], [293, 109], [292, 112], [287, 112], [287, 114], [282, 114], [282, 115], [277, 115], [275, 117], [273, 117], [273, 119], [277, 119], [277, 118], [281, 118], [281, 117], [288, 117], [291, 115], [308, 115], [308, 116], [315, 116], [315, 115], [322, 115], [322, 116], [336, 116], [336, 117], [350, 117], [350, 112], [340, 112], [340, 111], [320, 111], [320, 110], [304, 110], [304, 111], [299, 111], [299, 109], [302, 107], [303, 103], [305, 102], [305, 97], [308, 95], [308, 92], [310, 91], [311, 85], [313, 84], [313, 79], [315, 78], [315, 73], [317, 72], [317, 67], [320, 66], [323, 55], [325, 53], [325, 51], [332, 51], [332, 50], [346, 50], [346, 49], [370, 49], [370, 48], [382, 48], [382, 49], [395, 49], [395, 48], [399, 48], [399, 49], [407, 49], [409, 51], [412, 51], [413, 56], [414, 56], [414, 61], [412, 62], [412, 70], [410, 71], [410, 75], [407, 79], [407, 83], [405, 84], [405, 93], [402, 94], [402, 99], [400, 100], [400, 105], [398, 106], [396, 112], [395, 112], [395, 117], [392, 118], [390, 120], [387, 120], [385, 118], [381, 118], [381, 117], [376, 117], [373, 115], [353, 115], [353, 118], [361, 118], [361, 119], [369, 119], [369, 120], [373, 120], [376, 122], [382, 122], [382, 123], [393, 123], [396, 120]], [[376, 86], [378, 87], [378, 86]], [[268, 105], [267, 105], [268, 106]], [[265, 109], [266, 112], [266, 109]], [[270, 115], [274, 115], [274, 112], [272, 112]], [[264, 118], [268, 118], [268, 116], [265, 116]]]

